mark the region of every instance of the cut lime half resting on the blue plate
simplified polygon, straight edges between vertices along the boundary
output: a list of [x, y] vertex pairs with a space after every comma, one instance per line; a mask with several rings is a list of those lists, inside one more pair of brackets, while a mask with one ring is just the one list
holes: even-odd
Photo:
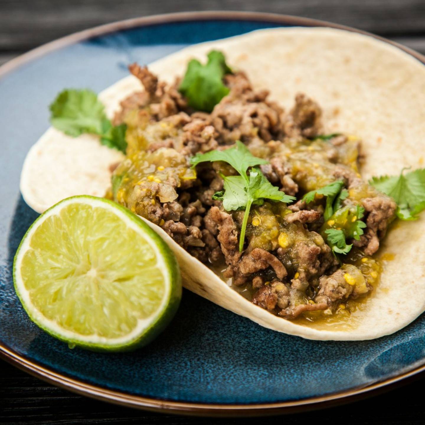
[[181, 298], [180, 272], [165, 242], [124, 207], [93, 196], [64, 199], [40, 215], [13, 271], [31, 320], [71, 347], [145, 345]]

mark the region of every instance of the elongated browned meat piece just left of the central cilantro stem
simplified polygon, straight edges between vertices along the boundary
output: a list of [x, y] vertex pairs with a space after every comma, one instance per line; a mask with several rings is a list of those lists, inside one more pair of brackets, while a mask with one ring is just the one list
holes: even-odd
[[218, 225], [217, 239], [221, 244], [226, 264], [236, 264], [241, 258], [241, 253], [238, 249], [238, 228], [232, 216], [220, 211], [217, 207], [212, 207], [209, 215]]

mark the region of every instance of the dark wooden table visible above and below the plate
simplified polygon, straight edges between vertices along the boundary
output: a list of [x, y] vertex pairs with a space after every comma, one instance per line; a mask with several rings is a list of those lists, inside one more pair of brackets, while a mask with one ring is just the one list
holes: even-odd
[[[38, 45], [131, 17], [192, 10], [263, 11], [333, 21], [425, 53], [425, 0], [0, 0], [0, 65]], [[425, 94], [424, 94], [425, 95]], [[78, 396], [0, 361], [0, 423], [236, 425], [425, 424], [420, 378], [350, 405], [273, 419], [205, 419], [150, 413]]]

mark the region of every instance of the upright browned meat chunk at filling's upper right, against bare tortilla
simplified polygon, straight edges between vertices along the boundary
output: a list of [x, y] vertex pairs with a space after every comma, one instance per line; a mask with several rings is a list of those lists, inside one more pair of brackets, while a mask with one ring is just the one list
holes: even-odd
[[289, 137], [314, 137], [322, 129], [322, 110], [305, 94], [295, 96], [295, 106], [286, 116], [284, 132]]

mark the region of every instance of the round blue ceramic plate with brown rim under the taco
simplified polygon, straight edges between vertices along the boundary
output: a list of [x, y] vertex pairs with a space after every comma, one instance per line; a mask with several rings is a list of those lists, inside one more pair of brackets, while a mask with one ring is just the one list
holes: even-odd
[[323, 405], [424, 368], [425, 316], [373, 341], [310, 341], [264, 329], [185, 291], [175, 320], [149, 346], [97, 354], [71, 350], [38, 329], [15, 295], [13, 257], [37, 218], [20, 195], [20, 170], [49, 125], [48, 105], [59, 91], [101, 91], [125, 77], [130, 62], [149, 63], [193, 43], [294, 25], [343, 28], [269, 14], [163, 15], [83, 31], [0, 68], [0, 352], [6, 360], [93, 397], [201, 414]]

